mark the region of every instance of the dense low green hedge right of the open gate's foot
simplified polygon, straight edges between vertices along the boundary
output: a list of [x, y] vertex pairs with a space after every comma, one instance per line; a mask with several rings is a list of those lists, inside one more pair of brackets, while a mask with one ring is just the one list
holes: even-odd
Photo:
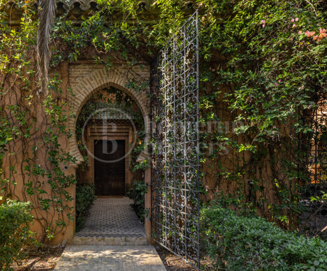
[[327, 243], [286, 232], [261, 217], [212, 205], [201, 211], [205, 250], [215, 270], [326, 270]]

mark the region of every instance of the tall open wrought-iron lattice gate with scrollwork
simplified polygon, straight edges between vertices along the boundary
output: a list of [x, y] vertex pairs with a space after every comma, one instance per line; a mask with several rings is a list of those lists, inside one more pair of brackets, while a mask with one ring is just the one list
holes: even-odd
[[198, 12], [159, 53], [152, 81], [152, 237], [200, 269]]

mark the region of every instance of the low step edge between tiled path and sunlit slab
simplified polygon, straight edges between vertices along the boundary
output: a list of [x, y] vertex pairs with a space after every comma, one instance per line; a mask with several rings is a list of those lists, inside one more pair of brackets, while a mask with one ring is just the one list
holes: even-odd
[[146, 237], [74, 237], [73, 244], [145, 246]]

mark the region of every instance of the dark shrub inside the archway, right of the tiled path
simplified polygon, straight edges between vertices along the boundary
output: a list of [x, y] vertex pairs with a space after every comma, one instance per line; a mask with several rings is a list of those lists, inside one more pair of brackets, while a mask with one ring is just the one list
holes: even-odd
[[147, 193], [147, 184], [145, 184], [144, 181], [133, 182], [133, 186], [127, 192], [127, 196], [134, 201], [131, 207], [136, 212], [141, 222], [143, 222], [145, 218], [145, 193]]

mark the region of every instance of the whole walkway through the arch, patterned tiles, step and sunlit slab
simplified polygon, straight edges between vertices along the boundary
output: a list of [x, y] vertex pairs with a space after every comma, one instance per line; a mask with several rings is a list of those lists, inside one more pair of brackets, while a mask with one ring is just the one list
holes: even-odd
[[76, 233], [55, 271], [165, 271], [156, 249], [147, 245], [145, 230], [122, 198], [96, 198], [85, 227]]

